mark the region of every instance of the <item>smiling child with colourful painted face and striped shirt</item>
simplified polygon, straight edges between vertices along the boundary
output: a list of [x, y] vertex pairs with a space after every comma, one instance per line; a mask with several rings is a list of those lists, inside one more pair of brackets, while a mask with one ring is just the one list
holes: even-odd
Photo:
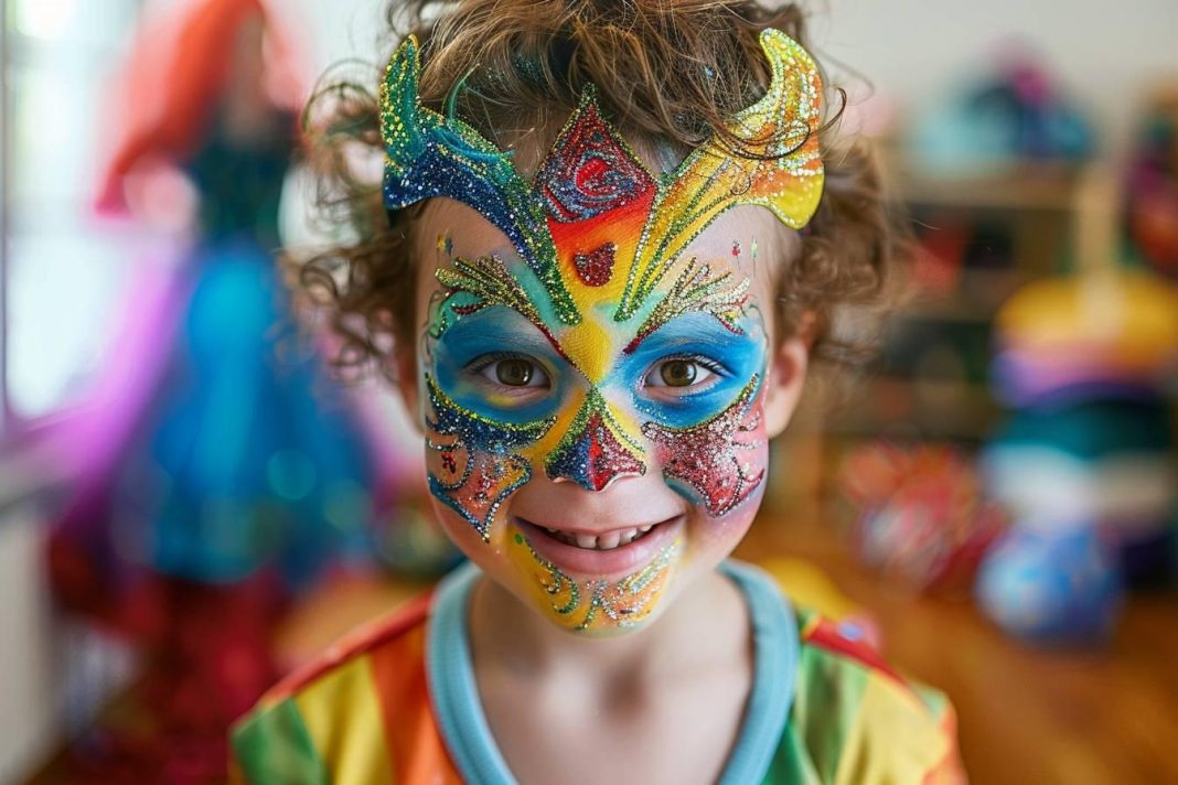
[[866, 157], [825, 147], [798, 9], [422, 11], [379, 107], [339, 93], [320, 144], [357, 239], [303, 281], [396, 372], [472, 564], [272, 690], [234, 773], [959, 780], [944, 699], [727, 560], [894, 245]]

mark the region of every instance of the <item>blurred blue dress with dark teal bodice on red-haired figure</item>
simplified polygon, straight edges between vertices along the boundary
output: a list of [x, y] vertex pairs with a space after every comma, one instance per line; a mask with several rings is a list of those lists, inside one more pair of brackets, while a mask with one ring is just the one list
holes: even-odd
[[273, 126], [290, 132], [243, 144], [214, 122], [186, 166], [200, 193], [191, 294], [114, 484], [124, 554], [201, 583], [273, 564], [297, 586], [370, 531], [369, 455], [276, 270], [294, 122]]

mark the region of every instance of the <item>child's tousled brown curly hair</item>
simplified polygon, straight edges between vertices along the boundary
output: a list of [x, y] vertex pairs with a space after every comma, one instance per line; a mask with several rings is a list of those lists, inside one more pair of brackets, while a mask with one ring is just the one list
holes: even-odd
[[[795, 4], [746, 0], [409, 0], [392, 2], [386, 19], [398, 42], [409, 33], [421, 41], [421, 100], [442, 111], [462, 81], [452, 95], [456, 114], [501, 148], [522, 153], [515, 158], [522, 169], [529, 160], [538, 164], [532, 159], [548, 148], [587, 84], [640, 148], [682, 157], [714, 134], [736, 145], [727, 118], [768, 85], [760, 32], [773, 27], [806, 46]], [[379, 71], [370, 73], [329, 74], [304, 117], [319, 217], [329, 227], [346, 227], [348, 237], [287, 264], [306, 302], [343, 339], [337, 366], [375, 364], [392, 375], [395, 348], [413, 345], [410, 250], [422, 205], [390, 220], [382, 204], [379, 167], [372, 165], [383, 152]], [[881, 301], [904, 237], [889, 220], [866, 145], [835, 140], [845, 95], [833, 92], [836, 100], [828, 105], [835, 108], [820, 132], [826, 187], [798, 257], [782, 260], [779, 338], [803, 330], [812, 358], [848, 364], [868, 353], [869, 341], [838, 334], [835, 317], [845, 306]]]

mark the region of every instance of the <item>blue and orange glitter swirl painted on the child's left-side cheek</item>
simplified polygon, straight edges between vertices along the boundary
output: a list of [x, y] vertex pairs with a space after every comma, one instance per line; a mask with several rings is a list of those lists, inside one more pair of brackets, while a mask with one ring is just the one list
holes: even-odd
[[[465, 410], [425, 377], [434, 418], [425, 440], [430, 492], [490, 540], [491, 521], [503, 500], [531, 478], [519, 451], [552, 427], [556, 418], [527, 425], [496, 423]], [[435, 466], [437, 471], [435, 471]]]

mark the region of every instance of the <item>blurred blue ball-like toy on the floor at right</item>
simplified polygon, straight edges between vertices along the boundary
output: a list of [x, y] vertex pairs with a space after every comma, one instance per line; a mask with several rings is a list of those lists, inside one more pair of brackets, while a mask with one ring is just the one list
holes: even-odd
[[1107, 638], [1120, 608], [1118, 568], [1096, 527], [1012, 530], [986, 557], [978, 599], [1007, 632], [1044, 644]]

